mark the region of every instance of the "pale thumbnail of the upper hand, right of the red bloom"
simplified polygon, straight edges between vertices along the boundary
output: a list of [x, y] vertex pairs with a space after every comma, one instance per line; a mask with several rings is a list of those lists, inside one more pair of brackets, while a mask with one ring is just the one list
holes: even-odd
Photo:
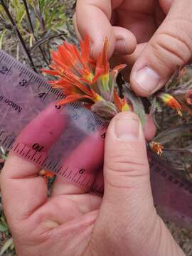
[[147, 92], [154, 92], [159, 85], [160, 79], [160, 76], [149, 67], [144, 67], [141, 70], [138, 70], [134, 75], [134, 80], [137, 84]]

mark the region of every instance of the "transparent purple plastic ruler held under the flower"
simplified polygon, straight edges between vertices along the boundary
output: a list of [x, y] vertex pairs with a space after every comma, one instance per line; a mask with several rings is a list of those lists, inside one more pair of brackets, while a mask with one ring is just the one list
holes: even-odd
[[[43, 77], [0, 50], [1, 146], [85, 191], [102, 195], [107, 127], [80, 103], [58, 106], [62, 97]], [[159, 213], [192, 227], [191, 183], [153, 154], [149, 159]]]

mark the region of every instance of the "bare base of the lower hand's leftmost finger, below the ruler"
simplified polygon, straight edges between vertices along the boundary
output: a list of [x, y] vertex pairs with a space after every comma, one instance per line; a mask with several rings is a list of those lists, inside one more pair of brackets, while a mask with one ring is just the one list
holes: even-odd
[[41, 169], [15, 154], [9, 154], [1, 173], [1, 193], [9, 223], [28, 217], [47, 199], [47, 186]]

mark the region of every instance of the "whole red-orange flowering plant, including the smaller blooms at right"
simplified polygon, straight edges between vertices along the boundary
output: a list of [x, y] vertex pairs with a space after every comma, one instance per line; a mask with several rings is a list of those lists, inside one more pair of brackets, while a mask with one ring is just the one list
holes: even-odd
[[[58, 78], [49, 81], [54, 88], [62, 90], [65, 95], [58, 105], [83, 102], [85, 107], [106, 122], [109, 122], [118, 112], [134, 111], [139, 115], [143, 125], [146, 111], [150, 112], [156, 122], [156, 114], [158, 116], [159, 112], [162, 112], [164, 105], [173, 109], [180, 118], [188, 118], [187, 114], [192, 114], [192, 76], [188, 73], [188, 68], [178, 70], [163, 90], [143, 100], [134, 95], [128, 82], [124, 81], [120, 90], [117, 75], [126, 65], [117, 65], [110, 69], [107, 45], [106, 38], [97, 61], [90, 56], [89, 36], [85, 36], [85, 40], [80, 42], [80, 50], [74, 45], [63, 42], [62, 46], [58, 46], [57, 50], [51, 53], [50, 70], [43, 69], [43, 72]], [[183, 113], [186, 113], [184, 117], [182, 117]], [[171, 112], [171, 115], [174, 116], [174, 113]], [[166, 132], [169, 131], [162, 132], [161, 129], [159, 131], [149, 146], [161, 155], [164, 149], [164, 145], [160, 143], [161, 137], [166, 136]]]

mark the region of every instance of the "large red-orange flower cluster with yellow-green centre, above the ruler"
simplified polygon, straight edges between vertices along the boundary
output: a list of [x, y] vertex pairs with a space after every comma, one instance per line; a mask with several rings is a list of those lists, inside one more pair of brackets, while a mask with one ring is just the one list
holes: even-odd
[[58, 46], [56, 52], [51, 53], [51, 70], [43, 71], [58, 78], [49, 82], [54, 88], [63, 90], [65, 95], [58, 105], [76, 101], [85, 102], [87, 106], [96, 102], [114, 102], [117, 112], [129, 110], [127, 100], [120, 99], [115, 92], [117, 75], [126, 65], [110, 70], [107, 45], [106, 38], [96, 62], [90, 58], [89, 36], [80, 42], [80, 51], [76, 46], [63, 42], [63, 46]]

